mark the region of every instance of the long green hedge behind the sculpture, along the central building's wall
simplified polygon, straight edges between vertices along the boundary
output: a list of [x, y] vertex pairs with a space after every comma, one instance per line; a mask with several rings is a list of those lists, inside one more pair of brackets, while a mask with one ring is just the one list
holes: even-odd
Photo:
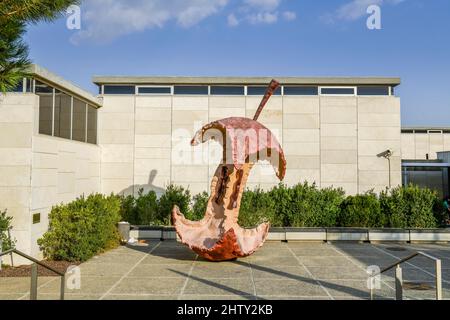
[[[154, 192], [122, 197], [122, 219], [137, 225], [168, 225], [173, 205], [188, 219], [200, 220], [209, 195], [191, 199], [188, 190], [170, 185], [157, 199]], [[243, 193], [239, 224], [254, 227], [269, 221], [274, 227], [435, 228], [443, 221], [441, 200], [435, 192], [409, 185], [380, 194], [346, 196], [340, 188], [319, 189], [302, 183], [280, 184], [271, 190]]]

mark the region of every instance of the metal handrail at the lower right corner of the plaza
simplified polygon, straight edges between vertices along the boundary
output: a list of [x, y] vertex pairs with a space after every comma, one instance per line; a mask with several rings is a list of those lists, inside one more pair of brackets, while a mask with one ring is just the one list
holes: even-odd
[[441, 259], [438, 259], [436, 257], [430, 256], [427, 253], [424, 253], [422, 251], [414, 252], [413, 254], [398, 260], [397, 262], [381, 269], [380, 271], [370, 275], [370, 299], [373, 300], [373, 281], [372, 278], [381, 275], [382, 273], [391, 270], [392, 268], [396, 267], [395, 270], [395, 295], [397, 300], [403, 299], [403, 276], [402, 276], [402, 269], [400, 267], [400, 264], [407, 262], [408, 260], [411, 260], [414, 257], [417, 256], [423, 256], [425, 258], [428, 258], [430, 260], [433, 260], [435, 262], [435, 271], [436, 271], [436, 300], [442, 300], [442, 265], [441, 265]]

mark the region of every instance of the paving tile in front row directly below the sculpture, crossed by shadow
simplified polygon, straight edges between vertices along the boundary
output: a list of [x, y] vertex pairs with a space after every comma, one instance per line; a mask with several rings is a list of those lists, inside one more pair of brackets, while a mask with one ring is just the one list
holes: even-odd
[[240, 279], [201, 279], [191, 276], [183, 294], [253, 295], [254, 289], [250, 277]]

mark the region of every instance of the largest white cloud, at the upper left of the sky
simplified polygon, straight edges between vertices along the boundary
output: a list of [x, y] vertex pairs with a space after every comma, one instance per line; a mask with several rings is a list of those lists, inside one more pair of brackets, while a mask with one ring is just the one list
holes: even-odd
[[82, 7], [84, 29], [72, 37], [109, 42], [119, 36], [162, 28], [173, 20], [182, 27], [193, 26], [218, 13], [229, 0], [89, 0]]

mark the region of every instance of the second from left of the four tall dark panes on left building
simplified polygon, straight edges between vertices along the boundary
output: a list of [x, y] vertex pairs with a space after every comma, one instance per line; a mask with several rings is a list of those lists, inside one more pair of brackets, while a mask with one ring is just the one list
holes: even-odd
[[55, 137], [70, 139], [71, 118], [72, 97], [55, 90]]

